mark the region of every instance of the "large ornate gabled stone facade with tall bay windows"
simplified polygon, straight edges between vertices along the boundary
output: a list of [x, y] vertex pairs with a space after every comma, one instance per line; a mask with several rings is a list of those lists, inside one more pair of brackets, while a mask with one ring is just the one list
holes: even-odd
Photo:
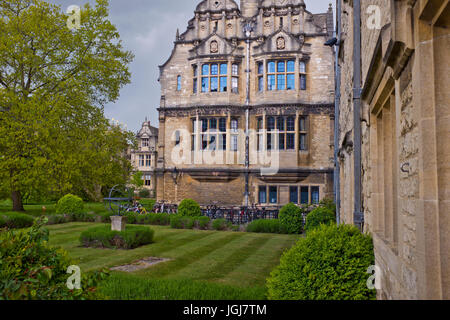
[[332, 34], [303, 0], [201, 1], [160, 66], [157, 199], [332, 197]]

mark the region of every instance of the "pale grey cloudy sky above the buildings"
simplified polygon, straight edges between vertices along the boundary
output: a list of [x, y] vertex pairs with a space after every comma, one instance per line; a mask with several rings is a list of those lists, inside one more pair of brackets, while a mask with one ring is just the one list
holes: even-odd
[[[47, 0], [67, 10], [95, 0]], [[326, 12], [334, 0], [305, 0], [312, 13]], [[131, 64], [132, 82], [121, 91], [119, 100], [105, 107], [128, 129], [137, 131], [145, 117], [158, 127], [160, 86], [158, 66], [170, 56], [177, 28], [184, 32], [200, 0], [110, 0], [110, 17], [124, 47], [135, 54]]]

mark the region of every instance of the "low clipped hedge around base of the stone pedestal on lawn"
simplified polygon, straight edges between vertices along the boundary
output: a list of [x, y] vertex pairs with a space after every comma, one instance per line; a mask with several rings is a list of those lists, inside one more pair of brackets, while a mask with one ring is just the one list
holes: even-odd
[[126, 226], [125, 231], [112, 231], [111, 226], [90, 228], [80, 235], [85, 247], [134, 249], [153, 242], [154, 231], [148, 227]]

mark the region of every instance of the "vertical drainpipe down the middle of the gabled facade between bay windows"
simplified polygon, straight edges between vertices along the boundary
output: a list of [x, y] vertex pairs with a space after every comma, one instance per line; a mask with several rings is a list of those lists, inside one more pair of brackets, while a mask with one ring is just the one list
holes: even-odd
[[247, 96], [245, 99], [245, 206], [249, 206], [249, 169], [250, 169], [250, 36], [253, 31], [253, 25], [248, 22], [244, 26], [244, 33], [247, 38]]

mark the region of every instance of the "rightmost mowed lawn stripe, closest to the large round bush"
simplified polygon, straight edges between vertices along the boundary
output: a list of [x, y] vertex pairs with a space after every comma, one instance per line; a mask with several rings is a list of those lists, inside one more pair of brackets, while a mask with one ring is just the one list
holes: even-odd
[[253, 255], [227, 274], [220, 282], [236, 286], [258, 285], [264, 286], [270, 272], [279, 265], [284, 250], [289, 249], [300, 237], [275, 235]]

